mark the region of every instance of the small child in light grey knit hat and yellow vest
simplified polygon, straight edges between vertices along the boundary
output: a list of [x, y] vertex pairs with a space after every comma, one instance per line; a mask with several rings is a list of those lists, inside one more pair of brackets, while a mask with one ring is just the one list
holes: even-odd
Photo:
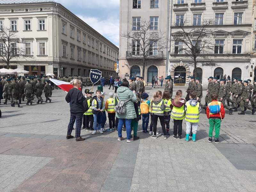
[[108, 121], [109, 121], [109, 129], [107, 129], [107, 131], [115, 131], [116, 102], [113, 96], [114, 96], [114, 93], [110, 92], [109, 99], [107, 99], [105, 103], [105, 109], [108, 112]]

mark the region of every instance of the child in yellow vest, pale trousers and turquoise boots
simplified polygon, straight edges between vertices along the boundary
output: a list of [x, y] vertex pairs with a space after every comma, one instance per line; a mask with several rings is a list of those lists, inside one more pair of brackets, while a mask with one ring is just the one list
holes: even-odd
[[196, 130], [199, 122], [199, 113], [201, 112], [200, 103], [195, 99], [196, 93], [190, 92], [189, 99], [185, 104], [185, 120], [187, 121], [186, 127], [186, 141], [189, 141], [190, 129], [192, 127], [192, 141], [196, 141]]

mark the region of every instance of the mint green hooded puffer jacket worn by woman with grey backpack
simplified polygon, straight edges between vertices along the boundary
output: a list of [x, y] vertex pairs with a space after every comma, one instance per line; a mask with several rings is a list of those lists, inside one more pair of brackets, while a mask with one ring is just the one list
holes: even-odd
[[[128, 88], [128, 87], [118, 87], [117, 89], [117, 93], [118, 96], [120, 98], [121, 101], [125, 101], [129, 98], [131, 98], [132, 96], [134, 96], [131, 100], [129, 100], [127, 103], [125, 103], [125, 107], [126, 107], [126, 112], [124, 115], [119, 115], [116, 113], [116, 117], [119, 119], [134, 119], [136, 118], [136, 112], [134, 109], [134, 104], [133, 102], [137, 101], [137, 97], [135, 93], [132, 93], [132, 91]], [[116, 96], [117, 98], [117, 96]], [[117, 104], [117, 101], [116, 101]]]

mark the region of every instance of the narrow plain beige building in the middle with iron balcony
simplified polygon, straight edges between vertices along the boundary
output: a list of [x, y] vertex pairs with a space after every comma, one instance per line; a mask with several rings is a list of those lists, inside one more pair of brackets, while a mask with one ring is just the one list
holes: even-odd
[[[143, 39], [125, 38], [122, 34], [129, 31], [131, 34], [138, 32], [141, 30], [140, 23], [144, 20], [151, 23], [146, 33], [147, 36], [152, 36], [153, 40], [161, 31], [163, 37], [161, 40], [163, 49], [159, 49], [160, 42], [154, 42], [153, 45], [146, 44], [151, 47], [151, 50], [145, 64], [144, 80], [151, 82], [152, 76], [155, 75], [165, 77], [167, 13], [168, 0], [120, 0], [119, 65], [117, 68], [119, 76], [142, 76], [143, 61], [140, 58], [142, 58]], [[150, 44], [149, 41], [147, 42]]]

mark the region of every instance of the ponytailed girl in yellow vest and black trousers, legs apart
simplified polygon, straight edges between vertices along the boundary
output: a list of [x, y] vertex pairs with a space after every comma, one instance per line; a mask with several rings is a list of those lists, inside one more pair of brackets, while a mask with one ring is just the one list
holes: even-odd
[[153, 131], [154, 134], [151, 135], [152, 138], [156, 139], [156, 125], [157, 120], [159, 118], [160, 124], [162, 126], [162, 130], [164, 133], [164, 139], [167, 139], [166, 137], [166, 131], [165, 131], [165, 125], [164, 125], [164, 109], [166, 108], [167, 104], [164, 104], [164, 100], [162, 100], [162, 92], [157, 91], [153, 95], [153, 99], [150, 102], [150, 108], [149, 110], [153, 114]]

